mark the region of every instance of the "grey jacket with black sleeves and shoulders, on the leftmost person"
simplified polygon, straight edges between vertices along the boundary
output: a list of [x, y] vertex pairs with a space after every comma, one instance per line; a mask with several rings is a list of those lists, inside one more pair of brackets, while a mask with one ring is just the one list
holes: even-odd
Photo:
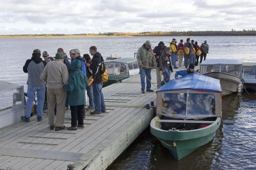
[[23, 66], [24, 73], [28, 73], [27, 85], [30, 86], [43, 86], [45, 82], [40, 80], [40, 74], [44, 71], [46, 62], [39, 56], [33, 56], [31, 59], [26, 60]]

